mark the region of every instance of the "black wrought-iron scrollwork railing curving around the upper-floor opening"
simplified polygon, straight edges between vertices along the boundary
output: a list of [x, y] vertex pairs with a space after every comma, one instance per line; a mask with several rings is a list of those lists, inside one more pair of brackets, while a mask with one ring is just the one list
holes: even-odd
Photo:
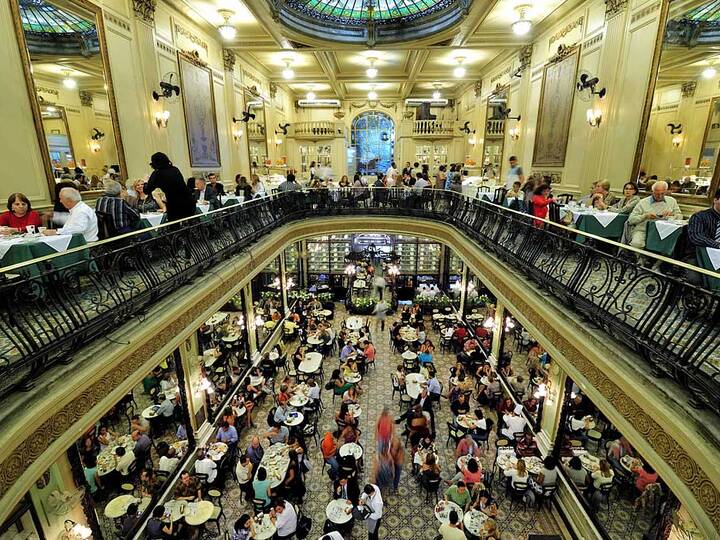
[[[539, 227], [479, 199], [369, 188], [276, 194], [0, 269], [0, 394], [260, 236], [295, 220], [347, 215], [412, 215], [455, 226], [720, 413], [720, 293], [679, 272], [641, 266], [632, 250], [619, 256], [610, 246], [578, 243], [564, 227]], [[73, 253], [84, 256], [69, 262]]]

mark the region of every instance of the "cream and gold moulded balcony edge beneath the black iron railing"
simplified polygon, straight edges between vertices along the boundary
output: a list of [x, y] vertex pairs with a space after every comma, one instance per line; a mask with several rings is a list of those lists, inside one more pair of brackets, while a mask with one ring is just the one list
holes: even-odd
[[[683, 487], [686, 493], [692, 495], [679, 496], [681, 500], [685, 499], [684, 504], [691, 502], [689, 511], [692, 512], [694, 507], [697, 513], [700, 511], [698, 507], [701, 508], [706, 523], [709, 519], [714, 527], [720, 530], [720, 491], [707, 472], [715, 458], [701, 455], [700, 450], [692, 447], [687, 436], [688, 430], [692, 428], [679, 425], [680, 418], [672, 419], [671, 416], [658, 413], [665, 407], [660, 398], [655, 402], [648, 398], [646, 393], [631, 390], [634, 388], [632, 382], [611, 379], [608, 372], [612, 370], [601, 369], [603, 362], [609, 362], [608, 358], [601, 358], [598, 349], [587, 347], [587, 343], [594, 338], [588, 332], [583, 336], [572, 333], [572, 328], [579, 328], [579, 323], [566, 317], [563, 319], [566, 327], [563, 328], [563, 324], [557, 322], [560, 316], [557, 309], [548, 307], [547, 300], [543, 298], [526, 299], [525, 293], [518, 292], [516, 278], [508, 272], [507, 267], [489, 257], [481, 246], [468, 242], [454, 227], [429, 220], [376, 217], [377, 219], [372, 221], [364, 217], [318, 218], [290, 224], [283, 227], [282, 231], [272, 233], [251, 248], [252, 257], [243, 255], [224, 263], [234, 265], [232, 269], [223, 270], [222, 265], [217, 269], [218, 272], [226, 271], [232, 276], [243, 275], [241, 282], [221, 278], [208, 284], [207, 291], [197, 291], [192, 301], [188, 298], [184, 303], [175, 303], [178, 308], [172, 314], [166, 314], [161, 321], [158, 317], [157, 327], [148, 328], [147, 324], [144, 325], [147, 338], [143, 334], [137, 347], [108, 350], [106, 362], [95, 368], [97, 373], [92, 376], [86, 374], [82, 381], [77, 381], [78, 386], [72, 392], [45, 404], [43, 414], [27, 411], [27, 423], [17, 426], [12, 433], [5, 433], [4, 436], [0, 434], [4, 443], [0, 449], [0, 521], [6, 517], [5, 509], [11, 509], [35, 479], [42, 475], [47, 465], [69, 446], [64, 445], [67, 437], [75, 436], [75, 433], [79, 435], [88, 422], [92, 423], [102, 415], [105, 405], [108, 404], [109, 389], [124, 391], [126, 387], [132, 387], [140, 381], [146, 371], [143, 368], [149, 360], [163, 353], [168, 346], [173, 346], [176, 341], [180, 340], [178, 343], [182, 343], [188, 333], [191, 333], [196, 325], [199, 326], [199, 321], [209, 317], [219, 302], [232, 296], [235, 289], [240, 290], [252, 275], [284, 249], [285, 245], [301, 238], [338, 231], [405, 234], [411, 228], [413, 234], [433, 238], [452, 247], [474, 272], [486, 280], [488, 287], [496, 292], [499, 301], [513, 313], [522, 314], [529, 324], [538, 330], [538, 335], [542, 335], [543, 341], [552, 344], [558, 351], [558, 358], [567, 363], [568, 369], [572, 368], [586, 379], [592, 391], [590, 398], [609, 403], [614, 409], [611, 411], [612, 415], [619, 415], [622, 421], [635, 431], [633, 437], [636, 440], [642, 438], [643, 444], [657, 454], [668, 474], [668, 477], [664, 478], [668, 484], [675, 486], [673, 489]], [[228, 287], [230, 283], [233, 286]], [[162, 311], [161, 308], [158, 309], [159, 312]], [[551, 316], [553, 313], [555, 314]], [[128, 329], [128, 332], [132, 331], [132, 328]], [[582, 333], [582, 330], [578, 332]], [[635, 397], [632, 396], [633, 392]], [[658, 391], [655, 393], [659, 394]], [[642, 399], [650, 401], [651, 405], [648, 406], [647, 402], [643, 405]], [[664, 420], [660, 420], [661, 418]], [[660, 421], [676, 422], [678, 426], [673, 427], [673, 430], [666, 430]], [[717, 473], [714, 469], [711, 472]], [[705, 530], [707, 531], [707, 527]]]

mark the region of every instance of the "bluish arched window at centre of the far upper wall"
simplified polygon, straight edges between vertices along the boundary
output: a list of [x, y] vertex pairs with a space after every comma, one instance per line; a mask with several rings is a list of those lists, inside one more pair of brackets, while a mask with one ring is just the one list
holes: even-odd
[[[350, 160], [360, 174], [384, 173], [395, 153], [395, 123], [387, 114], [360, 113], [352, 123]], [[351, 168], [351, 172], [354, 172]]]

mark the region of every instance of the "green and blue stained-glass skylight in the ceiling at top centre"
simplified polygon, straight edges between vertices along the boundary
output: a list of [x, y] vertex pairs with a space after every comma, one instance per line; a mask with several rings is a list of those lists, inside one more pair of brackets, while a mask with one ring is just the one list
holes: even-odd
[[299, 12], [341, 24], [367, 24], [413, 20], [452, 4], [451, 0], [289, 0]]

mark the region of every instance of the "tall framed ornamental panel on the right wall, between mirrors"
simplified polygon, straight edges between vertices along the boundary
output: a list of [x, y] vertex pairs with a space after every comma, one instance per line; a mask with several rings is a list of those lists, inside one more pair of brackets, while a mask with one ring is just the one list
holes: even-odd
[[543, 70], [533, 166], [563, 167], [575, 96], [580, 48], [558, 48]]

